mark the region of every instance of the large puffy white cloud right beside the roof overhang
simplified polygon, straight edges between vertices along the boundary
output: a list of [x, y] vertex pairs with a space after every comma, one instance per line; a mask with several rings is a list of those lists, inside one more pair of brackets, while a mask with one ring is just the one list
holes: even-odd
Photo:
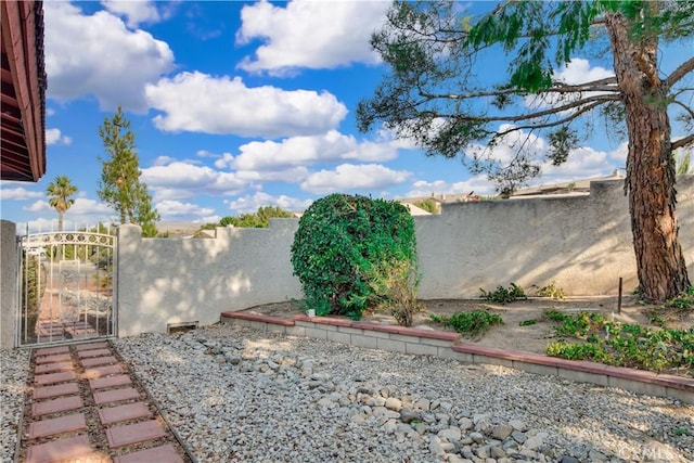
[[48, 95], [73, 100], [94, 95], [102, 110], [118, 104], [146, 110], [144, 87], [169, 72], [169, 46], [143, 30], [129, 30], [106, 11], [92, 15], [68, 2], [43, 3]]

